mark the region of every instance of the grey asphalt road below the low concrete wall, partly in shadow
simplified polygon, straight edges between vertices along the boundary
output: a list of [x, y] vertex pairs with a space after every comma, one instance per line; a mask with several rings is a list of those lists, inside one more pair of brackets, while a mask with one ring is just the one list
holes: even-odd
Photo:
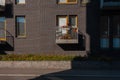
[[0, 69], [0, 80], [120, 80], [120, 70]]

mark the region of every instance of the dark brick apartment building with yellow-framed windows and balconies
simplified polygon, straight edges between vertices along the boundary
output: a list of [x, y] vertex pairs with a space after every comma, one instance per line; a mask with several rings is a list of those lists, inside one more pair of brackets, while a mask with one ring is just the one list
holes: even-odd
[[0, 0], [0, 52], [116, 53], [119, 5], [119, 0]]

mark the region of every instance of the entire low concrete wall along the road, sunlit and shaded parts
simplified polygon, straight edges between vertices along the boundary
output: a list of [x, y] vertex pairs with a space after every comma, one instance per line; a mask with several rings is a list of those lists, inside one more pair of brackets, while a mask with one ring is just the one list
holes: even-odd
[[0, 68], [120, 69], [120, 62], [99, 62], [99, 61], [0, 61]]

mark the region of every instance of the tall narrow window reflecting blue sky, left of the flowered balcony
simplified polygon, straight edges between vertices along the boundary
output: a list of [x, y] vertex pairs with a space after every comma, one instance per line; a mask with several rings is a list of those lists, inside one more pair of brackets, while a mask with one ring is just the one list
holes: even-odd
[[24, 16], [16, 17], [16, 36], [17, 37], [26, 37], [26, 25], [25, 25], [25, 17]]

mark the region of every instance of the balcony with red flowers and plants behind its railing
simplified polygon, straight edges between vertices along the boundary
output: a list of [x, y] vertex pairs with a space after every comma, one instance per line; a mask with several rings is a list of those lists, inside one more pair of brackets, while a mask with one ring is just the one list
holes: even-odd
[[76, 44], [78, 43], [78, 28], [70, 26], [60, 26], [56, 30], [57, 44]]

